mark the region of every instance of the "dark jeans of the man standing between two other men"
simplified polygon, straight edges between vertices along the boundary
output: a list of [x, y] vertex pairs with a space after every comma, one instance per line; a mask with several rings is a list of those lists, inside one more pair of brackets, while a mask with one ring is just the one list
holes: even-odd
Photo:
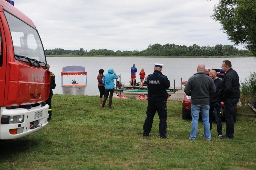
[[212, 130], [212, 116], [213, 116], [213, 111], [215, 114], [215, 122], [217, 124], [217, 132], [218, 135], [222, 135], [222, 123], [221, 123], [221, 103], [210, 103], [210, 112], [209, 112], [209, 122], [210, 122], [210, 129]]

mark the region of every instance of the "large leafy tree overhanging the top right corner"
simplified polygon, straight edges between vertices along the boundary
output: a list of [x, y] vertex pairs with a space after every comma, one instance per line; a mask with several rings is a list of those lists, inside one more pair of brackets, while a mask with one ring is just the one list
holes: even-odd
[[220, 0], [213, 11], [212, 18], [221, 23], [228, 39], [244, 44], [256, 56], [256, 1]]

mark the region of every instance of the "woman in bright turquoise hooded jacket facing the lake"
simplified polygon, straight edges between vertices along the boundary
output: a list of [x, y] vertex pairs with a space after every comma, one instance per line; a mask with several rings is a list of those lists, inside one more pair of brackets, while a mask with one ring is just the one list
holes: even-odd
[[108, 95], [109, 95], [108, 108], [111, 108], [113, 93], [115, 89], [114, 79], [118, 79], [118, 76], [117, 74], [115, 74], [115, 71], [113, 70], [113, 68], [109, 68], [108, 73], [104, 75], [102, 80], [102, 83], [105, 85], [105, 97], [102, 103], [102, 108], [104, 108], [105, 106], [105, 103], [108, 99]]

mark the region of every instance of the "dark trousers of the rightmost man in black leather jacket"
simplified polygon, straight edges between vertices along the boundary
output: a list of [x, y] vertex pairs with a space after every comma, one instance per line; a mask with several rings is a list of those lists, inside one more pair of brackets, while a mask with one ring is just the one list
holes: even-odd
[[234, 110], [239, 99], [226, 98], [223, 100], [225, 107], [225, 118], [226, 118], [226, 136], [234, 138]]

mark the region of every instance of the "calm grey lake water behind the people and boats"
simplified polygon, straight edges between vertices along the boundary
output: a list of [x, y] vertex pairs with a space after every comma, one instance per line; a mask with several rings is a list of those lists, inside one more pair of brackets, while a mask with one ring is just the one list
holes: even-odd
[[[61, 71], [62, 67], [70, 65], [84, 66], [87, 72], [87, 87], [85, 95], [99, 95], [97, 76], [99, 69], [104, 69], [104, 74], [109, 68], [113, 68], [117, 75], [120, 75], [121, 82], [128, 85], [131, 67], [135, 64], [137, 68], [136, 80], [140, 81], [139, 72], [145, 69], [146, 75], [154, 72], [154, 63], [164, 64], [162, 73], [168, 77], [171, 87], [181, 86], [181, 80], [187, 81], [197, 71], [197, 65], [203, 63], [206, 68], [221, 68], [223, 60], [230, 60], [232, 68], [238, 73], [240, 81], [248, 78], [248, 75], [255, 70], [256, 59], [254, 58], [134, 58], [134, 57], [47, 57], [50, 64], [50, 71], [55, 74], [56, 88], [53, 94], [62, 94]], [[66, 76], [66, 84], [72, 80], [82, 84], [81, 76]], [[114, 81], [115, 82], [115, 81]], [[184, 87], [184, 86], [182, 86]]]

